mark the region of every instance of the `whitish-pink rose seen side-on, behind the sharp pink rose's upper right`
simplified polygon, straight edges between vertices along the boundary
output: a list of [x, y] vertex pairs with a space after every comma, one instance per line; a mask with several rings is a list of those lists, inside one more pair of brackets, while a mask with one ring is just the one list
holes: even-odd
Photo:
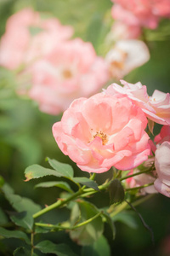
[[111, 84], [106, 94], [127, 95], [133, 102], [141, 108], [146, 116], [161, 125], [170, 125], [170, 96], [169, 93], [155, 90], [152, 96], [148, 96], [147, 88], [140, 82], [130, 84], [121, 80], [123, 87], [118, 84]]

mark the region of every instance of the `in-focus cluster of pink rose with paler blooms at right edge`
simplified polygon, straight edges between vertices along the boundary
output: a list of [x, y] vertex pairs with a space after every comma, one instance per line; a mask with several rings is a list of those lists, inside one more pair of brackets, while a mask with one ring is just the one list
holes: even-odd
[[[155, 189], [145, 189], [147, 193], [158, 190], [170, 196], [169, 94], [156, 90], [150, 97], [140, 83], [122, 84], [124, 87], [111, 84], [102, 93], [72, 102], [53, 126], [54, 138], [62, 152], [85, 172], [106, 172], [115, 166], [134, 173], [141, 164], [152, 166], [151, 175], [127, 183], [132, 187], [155, 182]], [[145, 131], [147, 118], [163, 125], [154, 143]]]

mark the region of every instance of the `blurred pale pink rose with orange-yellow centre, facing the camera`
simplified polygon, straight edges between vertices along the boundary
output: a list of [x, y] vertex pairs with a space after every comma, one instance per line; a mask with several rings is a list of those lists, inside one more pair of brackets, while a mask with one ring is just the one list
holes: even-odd
[[19, 79], [20, 94], [36, 101], [42, 112], [58, 114], [74, 99], [98, 92], [109, 75], [107, 64], [96, 55], [93, 45], [76, 38], [57, 44]]

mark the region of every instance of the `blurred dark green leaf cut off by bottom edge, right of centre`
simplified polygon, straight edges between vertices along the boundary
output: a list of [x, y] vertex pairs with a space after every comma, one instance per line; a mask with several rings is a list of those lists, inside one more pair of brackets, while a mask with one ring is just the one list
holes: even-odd
[[111, 249], [105, 236], [100, 236], [93, 245], [82, 247], [81, 256], [111, 256]]

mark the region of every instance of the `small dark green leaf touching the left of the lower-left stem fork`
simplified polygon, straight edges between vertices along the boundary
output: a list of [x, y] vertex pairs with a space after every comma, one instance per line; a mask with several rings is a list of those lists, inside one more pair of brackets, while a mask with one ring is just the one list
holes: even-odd
[[30, 212], [16, 212], [14, 215], [10, 216], [10, 219], [14, 224], [27, 230], [32, 230], [34, 219]]

